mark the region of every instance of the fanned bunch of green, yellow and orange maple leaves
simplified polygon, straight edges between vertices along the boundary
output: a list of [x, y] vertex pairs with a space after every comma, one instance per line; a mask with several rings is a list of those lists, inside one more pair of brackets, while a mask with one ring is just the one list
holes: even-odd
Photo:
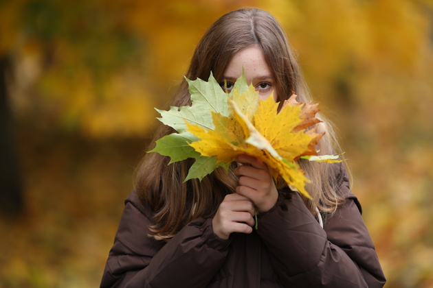
[[[226, 170], [239, 154], [263, 160], [274, 180], [284, 180], [307, 197], [309, 179], [298, 165], [300, 158], [336, 162], [338, 156], [318, 156], [315, 145], [318, 104], [299, 103], [293, 94], [278, 111], [274, 97], [261, 100], [245, 75], [236, 80], [230, 94], [223, 91], [212, 73], [208, 82], [186, 78], [191, 106], [158, 110], [162, 123], [177, 132], [156, 141], [150, 152], [170, 157], [170, 163], [195, 158], [186, 180], [203, 177], [216, 167]], [[170, 164], [169, 163], [169, 164]]]

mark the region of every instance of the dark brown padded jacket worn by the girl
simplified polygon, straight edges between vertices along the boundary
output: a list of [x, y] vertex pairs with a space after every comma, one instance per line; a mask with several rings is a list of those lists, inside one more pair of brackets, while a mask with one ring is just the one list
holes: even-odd
[[361, 206], [343, 166], [335, 167], [347, 201], [324, 228], [298, 193], [287, 193], [250, 235], [219, 239], [212, 219], [199, 218], [164, 243], [147, 236], [153, 211], [131, 193], [101, 287], [382, 287]]

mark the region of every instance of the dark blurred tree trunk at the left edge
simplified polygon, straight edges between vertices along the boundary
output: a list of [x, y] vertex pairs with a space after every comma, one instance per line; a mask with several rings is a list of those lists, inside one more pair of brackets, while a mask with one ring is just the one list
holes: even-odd
[[8, 56], [0, 56], [0, 214], [16, 217], [23, 210], [23, 189], [8, 101], [9, 72]]

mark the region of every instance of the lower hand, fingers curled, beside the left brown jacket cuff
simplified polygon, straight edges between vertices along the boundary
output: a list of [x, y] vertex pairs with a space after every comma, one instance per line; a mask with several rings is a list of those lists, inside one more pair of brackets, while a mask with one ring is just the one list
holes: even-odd
[[254, 204], [247, 197], [237, 193], [225, 195], [212, 219], [214, 233], [221, 239], [228, 239], [233, 232], [249, 234], [254, 213]]

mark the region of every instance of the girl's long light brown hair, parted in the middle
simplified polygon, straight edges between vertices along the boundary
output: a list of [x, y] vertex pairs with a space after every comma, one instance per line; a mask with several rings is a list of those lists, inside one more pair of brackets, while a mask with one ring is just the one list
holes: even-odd
[[[218, 82], [230, 60], [238, 51], [251, 45], [258, 45], [263, 51], [269, 69], [274, 74], [275, 91], [282, 104], [293, 92], [298, 101], [311, 101], [300, 67], [280, 24], [274, 16], [264, 10], [244, 8], [229, 12], [212, 24], [199, 41], [192, 56], [186, 77], [190, 80], [208, 80], [212, 71]], [[190, 105], [188, 84], [184, 80], [173, 99], [173, 106]], [[317, 145], [321, 154], [339, 152], [335, 132], [329, 121], [322, 115], [317, 124], [318, 132], [325, 132]], [[160, 125], [154, 140], [175, 132], [166, 125]], [[154, 141], [149, 149], [154, 146]], [[147, 154], [137, 167], [135, 189], [144, 204], [155, 211], [155, 225], [151, 226], [155, 239], [168, 240], [182, 227], [197, 217], [212, 217], [227, 193], [237, 186], [237, 179], [230, 169], [216, 169], [199, 182], [197, 179], [184, 183], [191, 160], [168, 165], [169, 159], [157, 153]], [[331, 165], [300, 161], [311, 183], [307, 191], [313, 200], [304, 199], [309, 211], [315, 215], [316, 207], [324, 213], [332, 213], [342, 202], [335, 193], [335, 176]]]

